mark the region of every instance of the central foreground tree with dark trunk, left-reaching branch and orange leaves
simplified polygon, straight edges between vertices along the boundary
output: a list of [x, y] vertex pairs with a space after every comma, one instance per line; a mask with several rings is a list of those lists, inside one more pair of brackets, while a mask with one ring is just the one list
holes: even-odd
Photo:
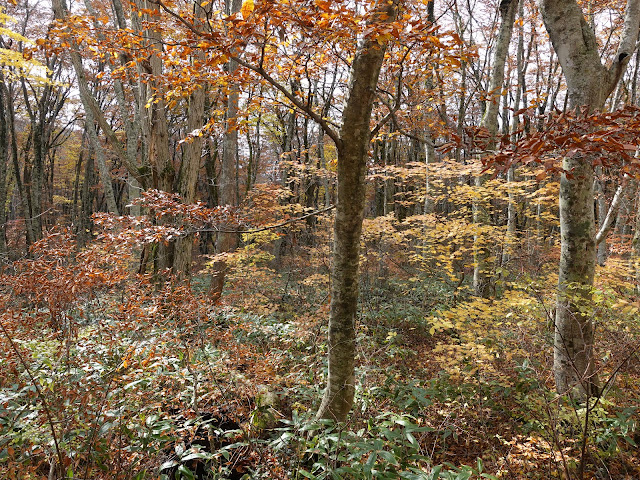
[[[349, 16], [350, 10], [347, 7], [339, 5], [335, 7], [337, 11], [334, 11], [333, 6], [328, 2], [305, 4], [305, 8], [309, 8], [314, 13], [319, 11], [323, 15], [324, 20], [315, 26], [311, 17], [306, 16], [307, 12], [301, 11], [302, 6], [296, 11], [290, 11], [287, 6], [264, 4], [261, 5], [261, 11], [254, 12], [253, 2], [245, 2], [241, 9], [242, 19], [237, 15], [230, 15], [225, 19], [228, 24], [234, 25], [236, 30], [230, 35], [231, 41], [224, 44], [219, 41], [215, 33], [199, 29], [187, 16], [172, 11], [169, 5], [162, 2], [158, 4], [178, 18], [192, 32], [197, 33], [203, 39], [201, 43], [224, 52], [239, 66], [260, 76], [294, 109], [319, 124], [335, 143], [338, 157], [338, 188], [331, 274], [329, 374], [317, 416], [344, 421], [351, 409], [355, 391], [359, 246], [365, 206], [365, 174], [372, 134], [370, 122], [376, 99], [378, 76], [385, 59], [387, 45], [393, 37], [398, 38], [401, 35], [401, 28], [396, 23], [400, 6], [395, 2], [381, 0], [375, 2], [365, 15], [367, 20], [361, 32], [362, 40], [353, 53], [351, 61], [351, 77], [342, 110], [342, 125], [339, 131], [336, 131], [333, 122], [316, 108], [313, 95], [310, 95], [310, 98], [302, 95], [299, 79], [309, 81], [310, 72], [320, 68], [313, 64], [312, 56], [304, 49], [312, 52], [312, 49], [322, 46], [323, 42], [328, 44], [335, 42], [334, 48], [345, 48], [347, 52], [353, 47], [353, 44], [349, 44], [348, 41], [357, 38], [354, 31], [358, 31], [362, 26]], [[270, 20], [265, 23], [265, 18]], [[270, 42], [278, 43], [277, 37], [273, 34], [274, 29], [280, 32], [278, 33], [280, 38], [286, 37], [287, 34], [282, 30], [284, 18], [289, 18], [291, 25], [301, 28], [304, 35], [300, 35], [298, 39], [303, 45], [309, 32], [313, 32], [321, 40], [316, 41], [314, 37], [310, 37], [309, 44], [292, 55], [293, 60], [274, 58], [274, 53], [279, 52], [278, 49], [281, 46], [275, 47]], [[274, 22], [273, 26], [270, 21]], [[338, 24], [334, 27], [331, 22], [338, 22]], [[346, 28], [339, 22], [346, 25]], [[437, 38], [433, 40], [435, 37], [428, 39], [429, 26], [429, 23], [415, 20], [412, 35], [414, 35], [414, 42], [422, 42], [430, 45], [427, 48], [432, 48], [438, 45], [439, 41]], [[240, 51], [238, 47], [246, 46], [249, 41], [255, 41], [256, 48], [247, 47]], [[300, 58], [306, 58], [307, 62], [300, 65]], [[279, 62], [277, 68], [273, 62]], [[290, 77], [287, 83], [290, 87], [280, 80], [282, 74], [274, 76], [270, 73], [270, 68], [279, 72], [288, 72]], [[322, 110], [326, 111], [326, 108]], [[393, 113], [393, 109], [390, 109], [389, 114], [373, 131], [378, 131], [380, 126], [391, 120]]]

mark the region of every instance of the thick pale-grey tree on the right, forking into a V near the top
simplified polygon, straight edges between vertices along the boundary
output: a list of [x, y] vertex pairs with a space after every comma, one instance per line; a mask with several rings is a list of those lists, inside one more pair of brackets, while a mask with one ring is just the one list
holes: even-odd
[[[640, 0], [628, 0], [618, 50], [602, 64], [596, 35], [575, 0], [540, 0], [540, 12], [567, 82], [569, 107], [576, 112], [602, 109], [635, 49]], [[555, 318], [554, 374], [559, 393], [577, 387], [597, 393], [593, 353], [594, 326], [589, 313], [596, 263], [593, 156], [563, 158], [560, 182], [561, 257]]]

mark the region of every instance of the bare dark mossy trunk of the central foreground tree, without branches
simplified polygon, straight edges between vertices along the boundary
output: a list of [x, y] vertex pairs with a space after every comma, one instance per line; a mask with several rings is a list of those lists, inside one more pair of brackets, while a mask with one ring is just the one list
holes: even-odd
[[[394, 4], [380, 2], [372, 22], [392, 22]], [[318, 418], [345, 421], [355, 392], [355, 337], [358, 307], [360, 234], [371, 110], [386, 43], [365, 37], [351, 66], [349, 98], [344, 108], [338, 147], [338, 204], [334, 225], [329, 374]]]

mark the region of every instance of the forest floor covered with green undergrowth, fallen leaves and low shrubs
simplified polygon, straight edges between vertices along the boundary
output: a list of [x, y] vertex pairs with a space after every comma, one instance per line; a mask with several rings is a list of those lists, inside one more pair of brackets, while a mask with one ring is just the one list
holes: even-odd
[[594, 296], [605, 393], [584, 403], [554, 393], [551, 268], [491, 300], [363, 269], [345, 425], [314, 420], [326, 267], [238, 270], [215, 305], [206, 275], [119, 277], [55, 325], [30, 284], [3, 316], [0, 478], [640, 478], [640, 318], [611, 268]]

